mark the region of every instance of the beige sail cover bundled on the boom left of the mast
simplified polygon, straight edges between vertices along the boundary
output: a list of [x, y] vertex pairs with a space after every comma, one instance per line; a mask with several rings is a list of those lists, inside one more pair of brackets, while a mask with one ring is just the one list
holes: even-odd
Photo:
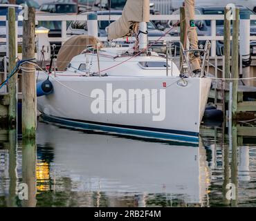
[[131, 36], [138, 22], [149, 22], [149, 0], [127, 0], [122, 16], [108, 27], [108, 39]]

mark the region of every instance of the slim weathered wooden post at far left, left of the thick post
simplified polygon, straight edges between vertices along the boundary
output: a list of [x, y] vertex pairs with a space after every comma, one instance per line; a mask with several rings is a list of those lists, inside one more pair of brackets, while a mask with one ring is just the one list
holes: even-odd
[[[9, 75], [16, 66], [16, 28], [15, 28], [15, 8], [8, 8], [8, 55], [9, 55]], [[17, 75], [10, 78], [8, 82], [10, 104], [8, 108], [9, 128], [15, 128], [17, 122]]]

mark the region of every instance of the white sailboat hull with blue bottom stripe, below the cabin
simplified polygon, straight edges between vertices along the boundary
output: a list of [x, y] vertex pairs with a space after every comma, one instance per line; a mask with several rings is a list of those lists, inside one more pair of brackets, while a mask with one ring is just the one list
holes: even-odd
[[[211, 80], [184, 80], [185, 84], [179, 77], [52, 77], [53, 94], [38, 97], [37, 106], [45, 119], [68, 126], [198, 142]], [[107, 84], [111, 84], [112, 90], [122, 88], [127, 95], [129, 89], [165, 89], [165, 118], [155, 121], [154, 113], [93, 113], [91, 103], [95, 99], [91, 98], [91, 93], [99, 88], [107, 94]], [[113, 104], [107, 95], [104, 99], [106, 107]], [[144, 110], [145, 97], [141, 99]], [[129, 102], [127, 97], [127, 106]]]

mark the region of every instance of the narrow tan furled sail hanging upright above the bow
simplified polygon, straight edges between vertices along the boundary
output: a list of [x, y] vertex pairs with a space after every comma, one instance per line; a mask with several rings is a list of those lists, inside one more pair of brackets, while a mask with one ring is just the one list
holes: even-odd
[[[190, 47], [191, 49], [198, 49], [196, 26], [194, 26], [194, 0], [185, 0], [185, 17]], [[199, 57], [195, 57], [194, 53], [190, 55], [190, 62], [192, 64], [192, 70], [201, 69], [201, 60]]]

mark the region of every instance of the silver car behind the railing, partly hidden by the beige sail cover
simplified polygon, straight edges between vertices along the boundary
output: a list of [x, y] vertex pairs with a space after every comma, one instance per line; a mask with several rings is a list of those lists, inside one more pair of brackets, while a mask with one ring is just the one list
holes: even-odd
[[[88, 15], [91, 12], [82, 12], [80, 15]], [[109, 15], [109, 11], [98, 11], [95, 12], [97, 15]], [[113, 10], [111, 15], [122, 15], [122, 11]], [[107, 37], [106, 28], [109, 26], [109, 23], [113, 21], [98, 21], [98, 37]], [[147, 31], [149, 37], [161, 37], [165, 35], [165, 32], [158, 30], [152, 21], [147, 23]], [[67, 29], [67, 35], [86, 35], [87, 34], [87, 25], [86, 21], [73, 21]], [[166, 42], [161, 40], [158, 42], [149, 41], [149, 44], [152, 44], [152, 48], [157, 52], [165, 52]]]

